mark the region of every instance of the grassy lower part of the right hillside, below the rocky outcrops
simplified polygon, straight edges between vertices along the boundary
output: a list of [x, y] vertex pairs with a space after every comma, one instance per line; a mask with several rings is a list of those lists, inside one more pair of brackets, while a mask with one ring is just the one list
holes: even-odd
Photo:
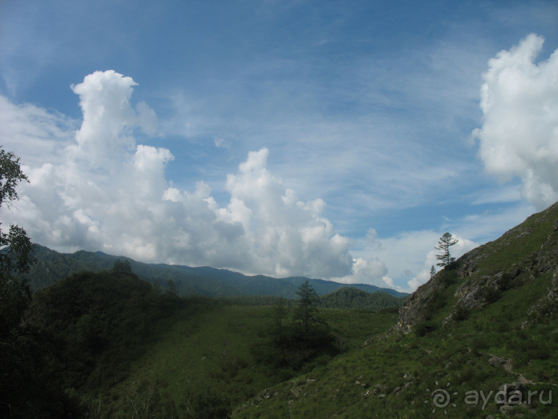
[[[463, 281], [451, 283], [435, 299], [430, 321], [437, 328], [432, 332], [422, 337], [410, 333], [370, 339], [367, 346], [355, 347], [311, 374], [276, 385], [269, 389], [275, 397], [257, 404], [252, 400], [233, 417], [485, 418], [492, 414], [502, 418], [502, 405], [494, 397], [504, 383], [518, 381], [515, 373], [521, 373], [531, 381], [525, 397], [528, 391], [535, 395], [531, 407], [536, 408], [536, 417], [555, 418], [552, 404], [542, 404], [538, 397], [543, 390], [543, 402], [548, 402], [548, 392], [558, 392], [556, 319], [525, 323], [529, 309], [548, 292], [552, 274], [526, 280], [487, 307], [442, 325]], [[512, 359], [512, 371], [490, 365], [493, 355]], [[448, 391], [455, 406], [436, 408], [432, 392], [437, 389]]]

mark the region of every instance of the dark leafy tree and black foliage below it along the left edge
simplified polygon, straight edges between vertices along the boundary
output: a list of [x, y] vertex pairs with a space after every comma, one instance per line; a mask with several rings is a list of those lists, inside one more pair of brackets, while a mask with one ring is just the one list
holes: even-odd
[[[17, 185], [29, 182], [20, 158], [0, 147], [0, 205], [20, 197]], [[31, 301], [20, 274], [34, 263], [33, 245], [23, 228], [0, 231], [0, 417], [75, 418], [80, 409], [61, 388], [52, 337], [27, 322]]]

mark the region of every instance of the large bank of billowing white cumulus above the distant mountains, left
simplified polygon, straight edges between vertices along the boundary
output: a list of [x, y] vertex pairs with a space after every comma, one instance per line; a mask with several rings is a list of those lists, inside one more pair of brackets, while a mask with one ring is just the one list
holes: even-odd
[[266, 148], [250, 152], [227, 176], [224, 207], [202, 181], [195, 191], [172, 186], [165, 178], [170, 150], [137, 143], [141, 133], [157, 132], [157, 117], [145, 103], [130, 103], [136, 85], [114, 71], [87, 75], [71, 87], [80, 96], [82, 124], [66, 131], [61, 116], [2, 98], [10, 114], [1, 137], [24, 132], [47, 153], [24, 167], [31, 180], [22, 185], [25, 198], [17, 213], [1, 212], [1, 221], [16, 221], [34, 242], [61, 251], [102, 250], [278, 277], [352, 272], [349, 240], [323, 216], [324, 201], [303, 202], [282, 184], [267, 169]]

